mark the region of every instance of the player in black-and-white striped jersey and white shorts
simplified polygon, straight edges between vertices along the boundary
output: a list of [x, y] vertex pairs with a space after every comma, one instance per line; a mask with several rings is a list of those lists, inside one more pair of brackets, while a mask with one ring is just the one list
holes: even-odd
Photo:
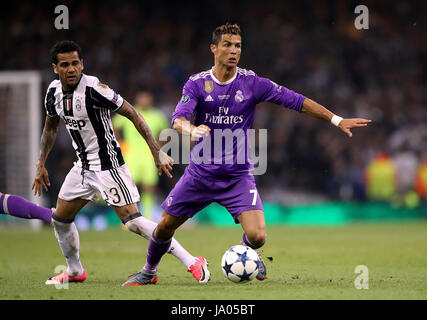
[[[40, 196], [42, 190], [47, 192], [50, 186], [45, 161], [54, 145], [60, 119], [71, 136], [78, 160], [62, 184], [56, 210], [52, 213], [52, 225], [67, 262], [67, 270], [48, 279], [46, 284], [63, 283], [65, 279], [68, 282], [86, 279], [79, 256], [79, 235], [73, 221], [89, 201], [102, 196], [128, 230], [146, 239], [151, 237], [156, 226], [138, 211], [139, 193], [114, 136], [112, 113], [133, 122], [150, 148], [159, 175], [165, 173], [172, 177], [173, 160], [160, 150], [144, 118], [98, 78], [84, 74], [81, 55], [80, 47], [72, 41], [59, 42], [51, 50], [53, 70], [59, 80], [52, 81], [45, 98], [47, 116], [32, 186], [34, 194]], [[176, 240], [168, 252], [179, 258], [196, 280], [208, 280], [209, 277], [202, 277], [209, 273], [204, 258], [193, 257]], [[151, 283], [156, 282], [157, 279], [152, 279]]]

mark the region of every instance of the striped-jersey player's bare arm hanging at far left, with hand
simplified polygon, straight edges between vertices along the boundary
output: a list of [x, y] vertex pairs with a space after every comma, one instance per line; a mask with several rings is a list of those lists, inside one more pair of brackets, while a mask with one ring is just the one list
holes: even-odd
[[45, 168], [47, 156], [55, 144], [56, 135], [58, 133], [59, 117], [46, 117], [44, 129], [40, 141], [40, 155], [36, 165], [36, 177], [34, 179], [31, 189], [34, 195], [40, 196], [42, 188], [47, 192], [50, 187], [49, 175]]

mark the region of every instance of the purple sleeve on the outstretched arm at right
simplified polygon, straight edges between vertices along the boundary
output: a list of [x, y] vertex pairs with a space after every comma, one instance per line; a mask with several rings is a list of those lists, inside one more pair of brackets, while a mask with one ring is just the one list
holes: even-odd
[[255, 95], [258, 102], [273, 102], [288, 109], [301, 112], [305, 96], [284, 86], [278, 85], [267, 78], [256, 76]]

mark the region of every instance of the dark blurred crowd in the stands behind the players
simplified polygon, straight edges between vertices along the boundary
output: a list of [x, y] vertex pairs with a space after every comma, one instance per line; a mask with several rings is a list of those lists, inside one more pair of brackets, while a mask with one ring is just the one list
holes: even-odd
[[[54, 27], [56, 4], [19, 2], [0, 12], [1, 70], [54, 78], [50, 47], [72, 39], [84, 72], [130, 102], [143, 88], [170, 118], [182, 86], [213, 65], [212, 30], [242, 28], [240, 67], [325, 105], [372, 119], [348, 138], [330, 123], [263, 103], [255, 127], [268, 129], [264, 200], [422, 199], [427, 193], [427, 23], [422, 2], [367, 1], [369, 29], [357, 30], [353, 1], [63, 1], [68, 30]], [[42, 114], [42, 111], [41, 111]], [[42, 122], [41, 122], [42, 125]], [[63, 128], [48, 161], [60, 187], [74, 158]], [[164, 196], [180, 177], [160, 180]], [[53, 180], [53, 181], [52, 181]], [[52, 201], [57, 190], [52, 190]], [[409, 201], [408, 203], [412, 203]]]

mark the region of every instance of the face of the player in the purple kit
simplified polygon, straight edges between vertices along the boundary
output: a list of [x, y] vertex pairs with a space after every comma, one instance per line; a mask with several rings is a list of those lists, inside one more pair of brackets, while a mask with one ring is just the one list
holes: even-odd
[[237, 34], [223, 34], [218, 45], [211, 45], [215, 62], [228, 68], [237, 66], [242, 53], [242, 37]]

